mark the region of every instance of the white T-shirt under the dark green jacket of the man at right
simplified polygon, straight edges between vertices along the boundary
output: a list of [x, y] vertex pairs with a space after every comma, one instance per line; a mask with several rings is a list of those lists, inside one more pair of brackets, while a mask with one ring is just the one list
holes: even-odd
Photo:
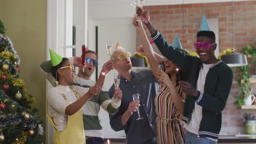
[[[196, 89], [202, 93], [204, 92], [204, 88], [205, 88], [206, 75], [212, 65], [213, 64], [204, 64], [203, 63], [202, 68], [200, 69], [199, 77], [197, 79]], [[188, 123], [184, 123], [184, 127], [190, 133], [198, 135], [201, 119], [202, 119], [202, 106], [197, 105], [197, 103], [195, 103], [195, 109], [192, 113], [191, 119]], [[207, 137], [207, 138], [211, 139], [209, 137]], [[216, 141], [216, 139], [211, 139], [211, 140]]]

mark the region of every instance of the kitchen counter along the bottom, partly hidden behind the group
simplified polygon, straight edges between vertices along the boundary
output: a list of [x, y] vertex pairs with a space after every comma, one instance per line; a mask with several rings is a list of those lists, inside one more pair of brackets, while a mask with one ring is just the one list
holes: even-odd
[[[107, 142], [108, 139], [105, 139]], [[125, 139], [109, 139], [110, 143], [123, 144]], [[219, 136], [218, 143], [256, 143], [256, 136]]]

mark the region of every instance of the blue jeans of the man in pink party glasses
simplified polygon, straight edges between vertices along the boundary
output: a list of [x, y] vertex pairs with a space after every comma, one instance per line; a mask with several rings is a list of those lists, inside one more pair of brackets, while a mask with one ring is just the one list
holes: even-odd
[[185, 144], [216, 144], [217, 141], [213, 141], [208, 139], [207, 137], [200, 137], [199, 140], [197, 140], [197, 135], [190, 133], [189, 131], [187, 131], [186, 133], [186, 140], [185, 140]]

